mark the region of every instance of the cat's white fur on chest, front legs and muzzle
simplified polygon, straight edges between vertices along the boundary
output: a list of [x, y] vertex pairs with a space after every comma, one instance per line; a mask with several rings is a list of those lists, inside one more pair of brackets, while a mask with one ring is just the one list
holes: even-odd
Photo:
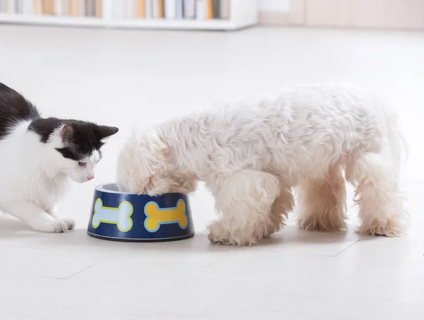
[[74, 221], [61, 218], [56, 204], [66, 191], [69, 178], [75, 182], [93, 179], [100, 155], [94, 151], [86, 165], [64, 158], [61, 127], [47, 143], [28, 131], [30, 122], [20, 122], [0, 140], [0, 210], [20, 218], [42, 232], [65, 232]]

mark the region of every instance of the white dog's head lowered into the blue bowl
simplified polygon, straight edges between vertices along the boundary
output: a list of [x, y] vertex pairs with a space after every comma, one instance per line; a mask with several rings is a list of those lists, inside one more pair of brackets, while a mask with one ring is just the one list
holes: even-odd
[[172, 192], [177, 182], [168, 169], [166, 152], [157, 134], [131, 134], [117, 159], [119, 190], [151, 196]]

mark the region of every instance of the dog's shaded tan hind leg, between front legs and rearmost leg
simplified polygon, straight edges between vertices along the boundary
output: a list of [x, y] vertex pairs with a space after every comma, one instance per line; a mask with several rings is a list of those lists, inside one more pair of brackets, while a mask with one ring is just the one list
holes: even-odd
[[298, 186], [298, 225], [310, 231], [346, 229], [346, 185], [341, 167], [331, 167], [324, 179]]

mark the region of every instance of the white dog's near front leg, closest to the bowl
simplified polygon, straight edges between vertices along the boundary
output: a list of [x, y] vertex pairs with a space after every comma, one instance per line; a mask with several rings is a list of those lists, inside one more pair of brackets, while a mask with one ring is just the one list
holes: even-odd
[[273, 174], [252, 170], [216, 174], [208, 187], [222, 215], [208, 225], [212, 243], [249, 245], [269, 235], [271, 226], [275, 230], [270, 212], [280, 185]]

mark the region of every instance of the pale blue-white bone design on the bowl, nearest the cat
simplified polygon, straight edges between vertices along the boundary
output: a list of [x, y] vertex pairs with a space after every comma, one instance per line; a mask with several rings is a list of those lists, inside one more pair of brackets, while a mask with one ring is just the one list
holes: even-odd
[[128, 201], [119, 203], [118, 208], [104, 207], [102, 199], [98, 198], [94, 203], [93, 220], [91, 224], [93, 228], [98, 228], [100, 223], [110, 223], [117, 225], [118, 230], [121, 232], [128, 232], [131, 230], [133, 221], [131, 215], [134, 209]]

